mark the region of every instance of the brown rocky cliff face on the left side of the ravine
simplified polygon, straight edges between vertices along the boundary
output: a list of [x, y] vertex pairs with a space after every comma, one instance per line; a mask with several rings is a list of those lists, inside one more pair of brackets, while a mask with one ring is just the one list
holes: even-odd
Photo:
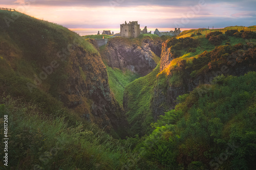
[[61, 92], [61, 101], [80, 117], [106, 131], [114, 128], [125, 132], [127, 120], [110, 91], [108, 74], [100, 55], [76, 47], [70, 55], [69, 67], [69, 78]]

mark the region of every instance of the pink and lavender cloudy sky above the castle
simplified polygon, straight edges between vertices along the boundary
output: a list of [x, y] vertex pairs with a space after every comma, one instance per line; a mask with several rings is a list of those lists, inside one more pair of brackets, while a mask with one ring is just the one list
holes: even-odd
[[256, 25], [256, 0], [1, 0], [0, 8], [58, 23], [71, 30], [224, 28]]

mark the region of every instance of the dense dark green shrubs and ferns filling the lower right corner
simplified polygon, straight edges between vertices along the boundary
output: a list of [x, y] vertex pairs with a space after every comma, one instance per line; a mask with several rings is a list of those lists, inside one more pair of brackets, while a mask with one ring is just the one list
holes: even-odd
[[[181, 103], [161, 116], [153, 133], [139, 144], [141, 157], [174, 169], [254, 168], [255, 82], [256, 72], [219, 76], [211, 85], [180, 96]], [[222, 159], [227, 150], [233, 152]]]

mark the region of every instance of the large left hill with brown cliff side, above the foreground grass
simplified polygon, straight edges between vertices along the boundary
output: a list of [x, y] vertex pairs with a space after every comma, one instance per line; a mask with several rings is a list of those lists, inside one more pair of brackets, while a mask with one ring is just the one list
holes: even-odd
[[[4, 19], [0, 21], [0, 57], [8, 67], [1, 69], [0, 79], [11, 85], [3, 89], [37, 103], [47, 100], [37, 93], [47, 94], [100, 128], [122, 129], [125, 135], [126, 117], [111, 93], [106, 67], [95, 46], [66, 28], [13, 13], [19, 18], [10, 27]], [[6, 16], [11, 18], [11, 13], [0, 13], [0, 18]], [[23, 81], [14, 84], [6, 74]]]

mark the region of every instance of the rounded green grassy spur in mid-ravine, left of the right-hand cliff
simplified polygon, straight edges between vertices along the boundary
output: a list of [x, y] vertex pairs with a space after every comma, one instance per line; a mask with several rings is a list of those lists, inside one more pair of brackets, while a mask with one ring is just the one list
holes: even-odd
[[150, 102], [159, 67], [160, 64], [147, 76], [136, 79], [125, 87], [124, 97], [127, 99], [127, 103], [124, 107], [131, 125], [131, 135], [144, 135], [151, 131], [150, 124], [153, 122], [153, 115]]

